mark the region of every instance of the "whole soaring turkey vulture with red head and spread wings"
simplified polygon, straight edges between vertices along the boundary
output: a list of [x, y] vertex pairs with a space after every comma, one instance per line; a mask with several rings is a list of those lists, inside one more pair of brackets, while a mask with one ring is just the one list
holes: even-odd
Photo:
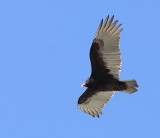
[[87, 87], [78, 99], [78, 108], [99, 118], [102, 108], [115, 91], [134, 93], [138, 85], [135, 80], [119, 80], [121, 53], [119, 50], [120, 32], [114, 16], [100, 22], [90, 48], [91, 75], [81, 86]]

